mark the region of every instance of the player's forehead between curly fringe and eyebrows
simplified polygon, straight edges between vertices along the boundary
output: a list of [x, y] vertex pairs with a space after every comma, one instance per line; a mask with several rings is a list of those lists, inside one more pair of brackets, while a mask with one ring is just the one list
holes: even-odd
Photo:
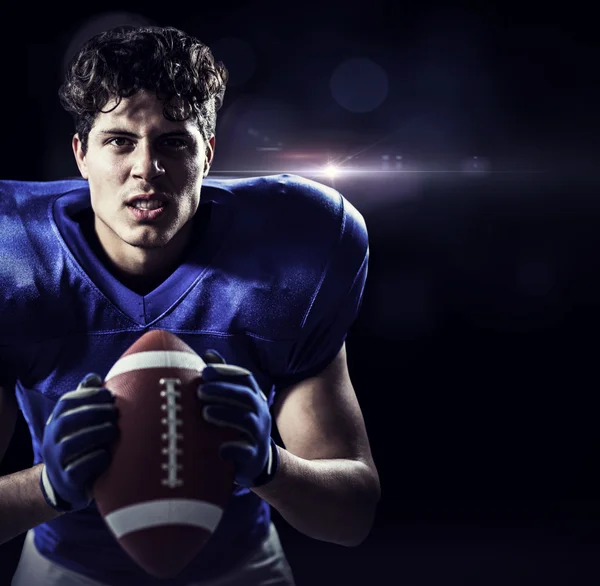
[[139, 91], [129, 98], [122, 98], [115, 108], [116, 103], [116, 99], [113, 98], [104, 106], [103, 110], [105, 111], [98, 113], [96, 116], [92, 131], [116, 126], [148, 132], [153, 130], [161, 132], [186, 130], [192, 134], [200, 134], [193, 116], [181, 121], [165, 118], [163, 113], [164, 101], [159, 100], [156, 95], [150, 92]]

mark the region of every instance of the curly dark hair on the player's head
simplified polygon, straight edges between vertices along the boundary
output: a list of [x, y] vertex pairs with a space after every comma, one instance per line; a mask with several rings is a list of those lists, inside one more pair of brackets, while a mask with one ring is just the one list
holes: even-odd
[[[58, 95], [87, 151], [96, 116], [139, 90], [156, 92], [168, 120], [196, 117], [206, 142], [215, 133], [228, 72], [198, 39], [173, 27], [120, 26], [88, 40], [71, 60]], [[114, 108], [103, 110], [116, 98]]]

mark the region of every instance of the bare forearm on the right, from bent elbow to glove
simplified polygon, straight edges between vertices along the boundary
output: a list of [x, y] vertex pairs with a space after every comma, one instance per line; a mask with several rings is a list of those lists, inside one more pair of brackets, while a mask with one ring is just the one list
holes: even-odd
[[373, 525], [379, 481], [354, 460], [305, 460], [279, 447], [279, 470], [252, 490], [308, 537], [359, 545]]

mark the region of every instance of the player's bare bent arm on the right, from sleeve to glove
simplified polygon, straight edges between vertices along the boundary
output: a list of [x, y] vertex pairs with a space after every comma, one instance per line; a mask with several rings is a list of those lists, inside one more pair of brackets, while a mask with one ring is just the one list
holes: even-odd
[[273, 411], [285, 449], [273, 480], [252, 490], [305, 535], [359, 545], [381, 488], [345, 346], [321, 374], [286, 389]]

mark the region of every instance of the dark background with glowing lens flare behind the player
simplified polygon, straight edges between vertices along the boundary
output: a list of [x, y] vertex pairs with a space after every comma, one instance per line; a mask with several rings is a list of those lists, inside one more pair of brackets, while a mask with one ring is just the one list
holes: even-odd
[[[0, 177], [77, 174], [56, 96], [65, 55], [94, 27], [146, 19], [194, 34], [231, 70], [215, 174], [299, 172], [364, 215], [370, 273], [348, 353], [383, 498], [358, 549], [275, 514], [299, 586], [597, 584], [592, 8], [169, 8], [7, 13]], [[380, 70], [332, 90], [352, 58], [385, 72], [381, 103]], [[319, 175], [300, 153], [353, 172]], [[29, 465], [27, 441], [20, 421], [2, 473]], [[0, 548], [0, 583], [20, 545]]]

